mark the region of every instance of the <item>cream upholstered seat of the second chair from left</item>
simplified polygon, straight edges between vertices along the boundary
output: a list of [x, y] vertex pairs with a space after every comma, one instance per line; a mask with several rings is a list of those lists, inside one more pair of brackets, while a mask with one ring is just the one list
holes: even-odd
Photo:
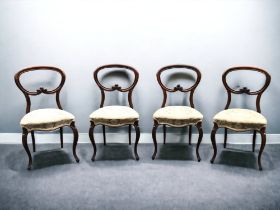
[[112, 127], [134, 124], [139, 120], [139, 114], [128, 106], [105, 106], [91, 113], [89, 117], [95, 125]]

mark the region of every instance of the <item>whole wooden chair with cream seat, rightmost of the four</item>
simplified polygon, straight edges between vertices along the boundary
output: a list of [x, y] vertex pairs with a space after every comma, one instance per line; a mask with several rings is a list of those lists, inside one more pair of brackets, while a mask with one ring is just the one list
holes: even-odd
[[[265, 76], [265, 84], [263, 87], [257, 91], [250, 91], [247, 87], [243, 87], [239, 90], [232, 89], [227, 83], [227, 76], [234, 71], [254, 71], [264, 74]], [[237, 132], [243, 131], [253, 131], [253, 146], [252, 150], [255, 151], [255, 144], [256, 144], [256, 133], [259, 132], [261, 134], [261, 147], [258, 155], [258, 166], [259, 170], [262, 170], [261, 165], [261, 155], [263, 153], [265, 143], [266, 143], [266, 125], [267, 120], [261, 114], [260, 108], [260, 100], [263, 92], [270, 84], [271, 77], [270, 75], [263, 69], [255, 68], [255, 67], [233, 67], [226, 70], [222, 76], [223, 84], [227, 91], [227, 104], [225, 106], [225, 110], [216, 114], [213, 118], [214, 126], [211, 132], [211, 141], [214, 149], [214, 154], [211, 159], [211, 163], [214, 163], [214, 160], [217, 155], [217, 147], [216, 147], [216, 139], [215, 135], [218, 128], [224, 128], [224, 148], [226, 148], [227, 144], [227, 130], [231, 129]], [[231, 94], [247, 94], [247, 95], [256, 95], [256, 108], [257, 111], [250, 110], [250, 109], [239, 109], [239, 108], [232, 108], [229, 109], [231, 103]]]

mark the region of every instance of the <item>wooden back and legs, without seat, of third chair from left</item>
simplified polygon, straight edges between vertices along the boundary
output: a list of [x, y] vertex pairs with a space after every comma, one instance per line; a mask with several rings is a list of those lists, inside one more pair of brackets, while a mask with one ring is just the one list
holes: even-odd
[[[161, 80], [161, 74], [164, 71], [172, 70], [172, 69], [184, 69], [184, 70], [187, 70], [187, 71], [194, 71], [196, 73], [196, 76], [197, 76], [195, 83], [191, 87], [185, 88], [185, 89], [180, 84], [178, 84], [173, 89], [168, 88], [167, 86], [165, 86], [163, 84], [163, 82]], [[196, 67], [189, 66], [189, 65], [169, 65], [169, 66], [165, 66], [165, 67], [161, 68], [157, 72], [156, 76], [157, 76], [157, 81], [158, 81], [158, 83], [159, 83], [159, 85], [162, 89], [162, 92], [163, 92], [163, 101], [162, 101], [161, 107], [165, 107], [165, 105], [166, 105], [167, 92], [174, 93], [174, 92], [180, 91], [180, 92], [183, 92], [183, 93], [190, 92], [190, 96], [189, 96], [190, 106], [192, 108], [194, 108], [193, 95], [194, 95], [195, 89], [197, 88], [197, 86], [198, 86], [198, 84], [200, 83], [200, 80], [201, 80], [201, 73]], [[153, 142], [154, 142], [154, 153], [153, 153], [153, 156], [152, 156], [153, 160], [155, 159], [156, 154], [157, 154], [156, 131], [157, 131], [158, 126], [159, 126], [159, 123], [156, 120], [154, 120], [154, 126], [153, 126], [153, 130], [152, 130], [152, 136], [153, 136]], [[199, 132], [198, 142], [197, 142], [197, 146], [196, 146], [196, 156], [197, 156], [197, 160], [200, 161], [201, 158], [199, 156], [199, 146], [200, 146], [200, 143], [201, 143], [202, 137], [203, 137], [202, 122], [198, 122], [195, 126], [197, 127], [198, 132]], [[191, 145], [192, 125], [188, 125], [188, 127], [189, 127], [189, 145]], [[166, 143], [166, 125], [165, 124], [163, 124], [163, 143], [164, 144]]]

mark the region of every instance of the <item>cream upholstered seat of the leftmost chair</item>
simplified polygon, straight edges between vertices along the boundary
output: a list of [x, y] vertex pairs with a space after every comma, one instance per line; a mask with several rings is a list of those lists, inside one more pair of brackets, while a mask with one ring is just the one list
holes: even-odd
[[37, 109], [26, 114], [20, 125], [28, 131], [50, 131], [70, 125], [74, 120], [72, 114], [61, 109]]

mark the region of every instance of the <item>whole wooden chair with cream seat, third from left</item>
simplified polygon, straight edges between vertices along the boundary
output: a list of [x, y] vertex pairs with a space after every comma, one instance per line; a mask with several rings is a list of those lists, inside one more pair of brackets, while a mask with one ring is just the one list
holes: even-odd
[[[174, 69], [182, 69], [184, 71], [194, 71], [196, 73], [196, 81], [195, 83], [189, 87], [184, 89], [181, 85], [177, 85], [173, 89], [165, 86], [161, 79], [161, 74], [164, 71], [172, 71]], [[195, 125], [199, 132], [198, 142], [196, 146], [196, 156], [197, 160], [200, 161], [201, 158], [199, 156], [199, 145], [201, 143], [203, 137], [203, 130], [202, 130], [202, 114], [194, 108], [193, 103], [193, 94], [201, 80], [201, 73], [200, 71], [188, 65], [170, 65], [161, 68], [157, 72], [157, 81], [162, 89], [163, 92], [163, 102], [161, 108], [158, 109], [153, 114], [154, 126], [152, 130], [153, 142], [154, 142], [154, 153], [152, 159], [154, 160], [157, 153], [157, 140], [156, 140], [156, 131], [159, 125], [163, 125], [163, 142], [166, 143], [166, 126], [171, 127], [186, 127], [189, 126], [189, 144], [191, 145], [191, 136], [192, 136], [192, 125]], [[183, 93], [190, 92], [189, 101], [190, 106], [165, 106], [167, 100], [167, 92], [174, 93], [176, 91], [180, 91]]]

